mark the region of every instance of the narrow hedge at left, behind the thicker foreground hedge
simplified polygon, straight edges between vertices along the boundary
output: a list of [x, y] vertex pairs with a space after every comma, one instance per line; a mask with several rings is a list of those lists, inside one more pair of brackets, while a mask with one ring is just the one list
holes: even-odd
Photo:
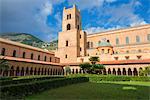
[[47, 79], [57, 79], [64, 78], [63, 76], [23, 76], [16, 77], [11, 80], [0, 80], [0, 85], [10, 85], [10, 84], [20, 84], [20, 83], [29, 83], [33, 81], [47, 80]]

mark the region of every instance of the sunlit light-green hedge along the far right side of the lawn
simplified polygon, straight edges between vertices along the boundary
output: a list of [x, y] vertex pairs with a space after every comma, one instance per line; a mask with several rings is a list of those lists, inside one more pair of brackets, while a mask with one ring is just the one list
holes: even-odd
[[150, 77], [147, 76], [115, 76], [115, 75], [93, 75], [93, 74], [76, 74], [70, 75], [68, 77], [76, 77], [76, 76], [83, 76], [89, 77], [91, 82], [97, 81], [149, 81]]

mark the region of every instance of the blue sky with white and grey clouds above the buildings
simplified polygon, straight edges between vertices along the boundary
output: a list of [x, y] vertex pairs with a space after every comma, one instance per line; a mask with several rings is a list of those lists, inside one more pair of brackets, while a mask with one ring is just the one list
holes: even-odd
[[56, 40], [63, 8], [73, 4], [88, 34], [150, 24], [150, 0], [0, 0], [0, 34], [21, 32], [45, 42]]

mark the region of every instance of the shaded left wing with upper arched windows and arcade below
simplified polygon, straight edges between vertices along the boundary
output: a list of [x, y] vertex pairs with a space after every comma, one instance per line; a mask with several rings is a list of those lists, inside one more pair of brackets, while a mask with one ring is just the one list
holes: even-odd
[[0, 59], [8, 61], [9, 69], [2, 76], [62, 75], [63, 66], [54, 52], [0, 38]]

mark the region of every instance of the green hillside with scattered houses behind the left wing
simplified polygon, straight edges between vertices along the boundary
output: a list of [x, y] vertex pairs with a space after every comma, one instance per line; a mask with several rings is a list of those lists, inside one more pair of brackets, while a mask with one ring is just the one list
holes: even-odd
[[20, 42], [23, 44], [27, 44], [38, 48], [48, 49], [48, 50], [55, 50], [57, 48], [57, 40], [52, 41], [50, 43], [46, 43], [40, 40], [39, 38], [28, 33], [3, 33], [0, 34], [0, 37], [11, 41]]

